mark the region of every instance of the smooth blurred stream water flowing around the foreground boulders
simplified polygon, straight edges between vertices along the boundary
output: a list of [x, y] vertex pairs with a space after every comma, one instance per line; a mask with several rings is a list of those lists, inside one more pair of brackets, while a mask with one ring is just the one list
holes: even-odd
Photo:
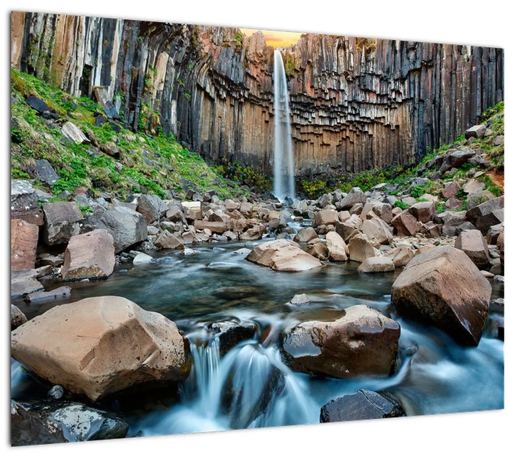
[[[491, 338], [491, 312], [477, 348], [457, 345], [435, 329], [399, 318], [390, 303], [391, 285], [400, 271], [359, 274], [358, 263], [328, 263], [307, 272], [283, 273], [252, 264], [234, 251], [244, 243], [206, 244], [197, 254], [179, 250], [152, 253], [155, 262], [122, 265], [103, 281], [72, 284], [72, 301], [118, 295], [173, 320], [190, 340], [194, 358], [179, 393], [139, 395], [136, 407], [113, 403], [130, 421], [129, 437], [232, 428], [319, 422], [320, 407], [358, 389], [387, 389], [409, 415], [503, 408], [503, 342]], [[295, 294], [310, 304], [290, 306]], [[493, 298], [503, 287], [493, 289]], [[16, 304], [27, 318], [59, 303]], [[401, 326], [399, 358], [390, 377], [336, 380], [295, 373], [282, 362], [280, 335], [298, 322], [333, 320], [340, 311], [367, 304]], [[254, 338], [223, 357], [206, 324], [227, 319], [255, 323]], [[14, 398], [45, 397], [16, 361], [12, 364]]]

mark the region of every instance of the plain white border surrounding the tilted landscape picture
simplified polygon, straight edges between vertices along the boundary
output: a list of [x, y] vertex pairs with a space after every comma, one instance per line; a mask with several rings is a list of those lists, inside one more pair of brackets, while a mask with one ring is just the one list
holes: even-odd
[[[496, 11], [496, 9], [498, 11]], [[160, 4], [151, 2], [121, 3], [88, 0], [70, 3], [55, 0], [10, 2], [4, 10], [6, 44], [2, 49], [8, 65], [10, 53], [10, 10], [47, 11], [87, 16], [120, 17], [192, 24], [227, 25], [265, 30], [315, 32], [374, 38], [406, 39], [429, 42], [473, 44], [506, 48], [507, 36], [501, 7], [493, 3], [463, 1], [460, 4], [443, 0], [407, 2], [403, 0], [379, 2], [277, 2], [258, 1], [196, 1], [181, 0]], [[4, 88], [4, 167], [5, 196], [2, 199], [8, 221], [9, 159], [9, 73], [1, 74]], [[5, 208], [4, 208], [5, 207]], [[9, 231], [2, 228], [8, 253]], [[4, 255], [2, 277], [5, 284], [7, 309], [9, 271]], [[7, 316], [6, 316], [7, 320]], [[8, 334], [8, 326], [4, 326]], [[9, 335], [4, 339], [3, 367], [9, 367]], [[6, 374], [9, 372], [6, 370]], [[506, 380], [506, 378], [505, 378]], [[502, 456], [505, 449], [506, 410], [494, 412], [433, 415], [391, 420], [333, 423], [326, 425], [266, 428], [263, 430], [227, 433], [200, 433], [164, 436], [88, 444], [9, 448], [9, 378], [4, 376], [2, 396], [2, 444], [16, 456]], [[505, 382], [506, 383], [506, 382]]]

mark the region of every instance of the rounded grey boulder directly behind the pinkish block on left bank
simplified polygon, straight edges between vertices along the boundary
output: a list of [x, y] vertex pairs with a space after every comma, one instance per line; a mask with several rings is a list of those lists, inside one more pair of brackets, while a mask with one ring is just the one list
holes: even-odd
[[111, 233], [115, 242], [115, 253], [142, 242], [148, 236], [146, 218], [127, 207], [109, 209], [102, 215], [97, 227]]

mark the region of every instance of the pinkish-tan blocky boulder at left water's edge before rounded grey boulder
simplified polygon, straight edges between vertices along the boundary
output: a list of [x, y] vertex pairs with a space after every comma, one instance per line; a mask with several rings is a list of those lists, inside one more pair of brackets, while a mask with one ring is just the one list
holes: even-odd
[[61, 275], [64, 280], [107, 278], [115, 267], [112, 235], [105, 229], [71, 237], [63, 254]]

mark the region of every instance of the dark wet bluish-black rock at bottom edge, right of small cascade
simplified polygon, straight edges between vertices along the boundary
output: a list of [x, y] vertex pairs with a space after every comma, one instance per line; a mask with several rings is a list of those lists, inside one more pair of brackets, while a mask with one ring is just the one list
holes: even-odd
[[321, 408], [320, 423], [405, 416], [399, 400], [388, 391], [359, 390], [325, 404]]

